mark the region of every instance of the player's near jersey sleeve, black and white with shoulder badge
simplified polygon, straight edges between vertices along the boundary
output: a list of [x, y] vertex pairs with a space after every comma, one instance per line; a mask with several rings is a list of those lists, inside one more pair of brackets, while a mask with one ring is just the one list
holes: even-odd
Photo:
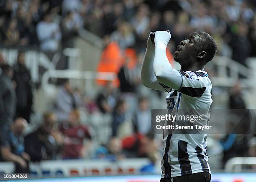
[[180, 93], [191, 97], [201, 97], [207, 87], [207, 74], [194, 71], [179, 71], [182, 75]]

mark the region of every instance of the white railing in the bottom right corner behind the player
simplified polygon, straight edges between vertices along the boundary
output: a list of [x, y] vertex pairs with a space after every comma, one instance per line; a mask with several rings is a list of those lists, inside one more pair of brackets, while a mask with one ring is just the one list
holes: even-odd
[[[256, 157], [234, 157], [225, 164], [225, 172], [244, 172], [244, 166], [255, 165]], [[248, 169], [247, 169], [248, 170]], [[255, 171], [256, 169], [254, 169]]]

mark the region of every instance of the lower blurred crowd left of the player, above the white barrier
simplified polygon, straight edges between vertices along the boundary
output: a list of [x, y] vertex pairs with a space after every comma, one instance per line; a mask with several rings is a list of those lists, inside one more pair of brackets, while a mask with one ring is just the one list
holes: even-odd
[[[154, 172], [159, 147], [151, 134], [147, 97], [139, 97], [138, 108], [130, 114], [127, 100], [112, 82], [106, 83], [97, 97], [90, 100], [73, 88], [68, 79], [62, 79], [53, 105], [36, 122], [32, 116], [32, 83], [24, 52], [18, 54], [14, 68], [5, 63], [0, 68], [0, 160], [14, 162], [16, 173], [28, 173], [30, 161], [88, 157], [111, 161], [148, 157], [152, 164], [142, 171]], [[97, 135], [91, 134], [92, 127], [84, 124], [82, 113], [110, 116], [106, 142], [99, 142]], [[101, 130], [103, 126], [97, 132]]]

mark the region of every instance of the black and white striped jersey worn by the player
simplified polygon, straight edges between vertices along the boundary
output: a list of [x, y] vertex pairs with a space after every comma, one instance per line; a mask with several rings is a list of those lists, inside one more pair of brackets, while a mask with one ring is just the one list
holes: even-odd
[[[174, 90], [160, 85], [168, 91], [166, 103], [169, 114], [198, 115], [203, 113], [201, 124], [207, 125], [210, 119], [210, 105], [212, 104], [212, 84], [205, 71], [179, 71], [182, 77], [181, 86]], [[174, 121], [173, 125], [178, 121]], [[165, 121], [165, 125], [168, 121]], [[164, 129], [163, 158], [161, 160], [161, 178], [176, 177], [197, 172], [210, 172], [206, 154], [207, 134], [184, 134]]]

